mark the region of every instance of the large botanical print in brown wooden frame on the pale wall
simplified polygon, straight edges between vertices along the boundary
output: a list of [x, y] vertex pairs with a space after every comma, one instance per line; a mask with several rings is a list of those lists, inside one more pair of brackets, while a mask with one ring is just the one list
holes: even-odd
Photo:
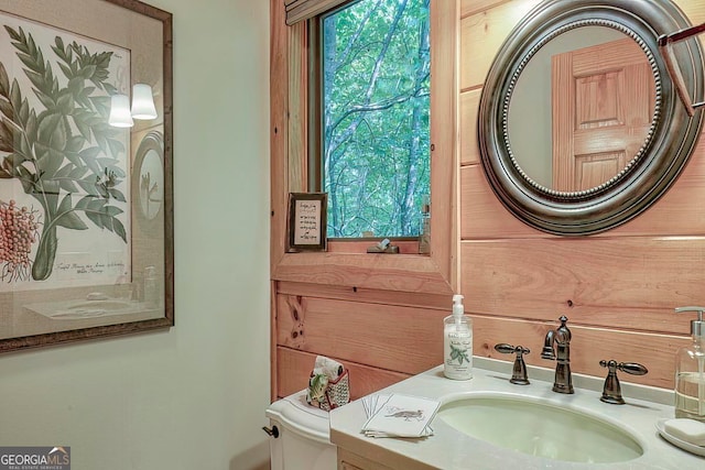
[[[172, 14], [0, 0], [0, 352], [170, 328]], [[138, 83], [156, 118], [111, 127]]]

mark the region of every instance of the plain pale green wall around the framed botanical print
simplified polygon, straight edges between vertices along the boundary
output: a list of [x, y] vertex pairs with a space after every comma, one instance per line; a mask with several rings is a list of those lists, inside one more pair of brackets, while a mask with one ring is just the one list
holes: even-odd
[[258, 468], [269, 2], [149, 2], [174, 14], [176, 326], [0, 356], [0, 446], [67, 445], [76, 470]]

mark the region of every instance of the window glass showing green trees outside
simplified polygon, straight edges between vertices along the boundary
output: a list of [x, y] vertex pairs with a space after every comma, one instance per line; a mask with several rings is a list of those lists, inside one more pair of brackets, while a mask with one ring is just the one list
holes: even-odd
[[[417, 237], [430, 194], [429, 0], [359, 0], [312, 20], [312, 186], [328, 238]], [[316, 113], [317, 112], [317, 113]]]

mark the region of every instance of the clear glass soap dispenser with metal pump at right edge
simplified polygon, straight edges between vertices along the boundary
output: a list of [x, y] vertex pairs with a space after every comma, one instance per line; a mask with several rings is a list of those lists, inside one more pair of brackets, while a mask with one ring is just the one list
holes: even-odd
[[705, 307], [679, 307], [677, 314], [697, 311], [691, 321], [693, 342], [679, 349], [675, 357], [675, 417], [705, 423]]

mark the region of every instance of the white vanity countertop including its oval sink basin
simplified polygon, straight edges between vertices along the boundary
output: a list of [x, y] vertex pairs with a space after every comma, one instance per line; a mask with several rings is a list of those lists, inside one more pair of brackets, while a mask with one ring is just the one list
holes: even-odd
[[[574, 373], [574, 394], [552, 391], [553, 368], [528, 365], [531, 384], [509, 382], [512, 364], [474, 357], [473, 379], [448, 380], [443, 367], [377, 393], [436, 400], [433, 435], [380, 439], [360, 433], [362, 401], [330, 412], [330, 441], [404, 470], [701, 470], [703, 457], [661, 438], [673, 417], [673, 391], [622, 381], [625, 405], [601, 402], [604, 376]], [[625, 378], [627, 379], [627, 378]]]

